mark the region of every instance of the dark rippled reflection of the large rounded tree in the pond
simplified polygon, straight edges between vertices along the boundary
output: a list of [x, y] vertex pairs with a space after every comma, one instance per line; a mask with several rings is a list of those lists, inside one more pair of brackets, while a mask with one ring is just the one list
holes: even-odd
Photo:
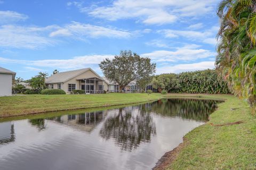
[[128, 151], [137, 148], [141, 142], [150, 142], [151, 134], [156, 134], [156, 126], [145, 106], [135, 106], [133, 112], [119, 108], [117, 114], [107, 117], [100, 136], [106, 140], [115, 139], [122, 150]]

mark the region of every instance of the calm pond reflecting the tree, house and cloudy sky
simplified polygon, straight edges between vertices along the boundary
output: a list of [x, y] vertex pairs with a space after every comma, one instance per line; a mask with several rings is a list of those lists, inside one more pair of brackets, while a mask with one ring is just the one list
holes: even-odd
[[217, 101], [162, 99], [0, 123], [0, 169], [151, 169]]

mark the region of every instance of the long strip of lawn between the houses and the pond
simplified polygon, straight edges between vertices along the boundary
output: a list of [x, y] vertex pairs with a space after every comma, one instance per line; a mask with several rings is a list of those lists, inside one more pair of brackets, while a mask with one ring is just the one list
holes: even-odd
[[160, 94], [24, 95], [0, 97], [0, 117], [141, 103]]

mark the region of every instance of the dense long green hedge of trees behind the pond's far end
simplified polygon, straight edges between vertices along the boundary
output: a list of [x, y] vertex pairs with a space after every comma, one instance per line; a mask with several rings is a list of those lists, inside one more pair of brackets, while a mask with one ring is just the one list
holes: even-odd
[[159, 92], [189, 94], [229, 94], [228, 84], [218, 76], [216, 70], [160, 74], [153, 77], [151, 84]]

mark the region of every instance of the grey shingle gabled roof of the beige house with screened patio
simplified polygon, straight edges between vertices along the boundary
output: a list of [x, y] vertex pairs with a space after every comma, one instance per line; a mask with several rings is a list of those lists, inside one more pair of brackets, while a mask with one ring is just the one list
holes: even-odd
[[[88, 70], [91, 70], [90, 68], [86, 69], [79, 69], [79, 70], [72, 70], [72, 71], [66, 71], [66, 72], [60, 72], [57, 74], [53, 74], [50, 77], [46, 78], [45, 82], [46, 83], [61, 83], [61, 82], [66, 82], [70, 79], [73, 79], [77, 77], [77, 75], [80, 75]], [[95, 73], [95, 72], [94, 72]], [[95, 73], [99, 78], [101, 78], [97, 73]]]

